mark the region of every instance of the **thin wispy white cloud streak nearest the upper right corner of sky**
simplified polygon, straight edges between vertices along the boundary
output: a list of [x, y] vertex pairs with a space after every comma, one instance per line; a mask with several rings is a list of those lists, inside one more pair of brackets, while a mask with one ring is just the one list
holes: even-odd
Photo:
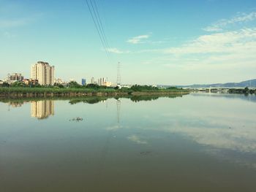
[[228, 25], [233, 25], [235, 23], [245, 23], [252, 20], [256, 20], [256, 12], [251, 12], [249, 14], [239, 13], [234, 18], [231, 18], [229, 20], [227, 19], [219, 20], [216, 23], [212, 24], [211, 26], [203, 28], [203, 30], [208, 32], [219, 32], [219, 31], [222, 31], [223, 28], [225, 28]]

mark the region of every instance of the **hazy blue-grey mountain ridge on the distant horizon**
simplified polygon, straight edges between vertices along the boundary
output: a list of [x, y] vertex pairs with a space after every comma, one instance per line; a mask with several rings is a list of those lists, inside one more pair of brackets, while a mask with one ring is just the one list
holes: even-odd
[[256, 88], [255, 80], [246, 80], [242, 82], [227, 82], [227, 83], [216, 83], [216, 84], [204, 84], [204, 85], [176, 85], [178, 88]]

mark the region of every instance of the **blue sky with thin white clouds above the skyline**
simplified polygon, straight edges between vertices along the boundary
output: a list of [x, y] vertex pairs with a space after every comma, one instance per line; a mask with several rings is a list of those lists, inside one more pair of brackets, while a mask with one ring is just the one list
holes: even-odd
[[[91, 0], [89, 0], [90, 3]], [[256, 79], [255, 0], [0, 0], [0, 79], [46, 61], [62, 80], [190, 85]], [[106, 54], [106, 51], [108, 54]]]

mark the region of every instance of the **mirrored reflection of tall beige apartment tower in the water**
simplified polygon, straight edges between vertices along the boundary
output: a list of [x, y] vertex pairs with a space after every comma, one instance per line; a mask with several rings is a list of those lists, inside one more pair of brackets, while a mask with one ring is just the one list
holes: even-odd
[[50, 115], [54, 115], [53, 100], [31, 101], [31, 117], [45, 119]]

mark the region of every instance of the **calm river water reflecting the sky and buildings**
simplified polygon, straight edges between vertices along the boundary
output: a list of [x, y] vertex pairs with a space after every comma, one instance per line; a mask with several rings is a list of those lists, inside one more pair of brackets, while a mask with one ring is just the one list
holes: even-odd
[[99, 100], [1, 101], [0, 191], [256, 191], [255, 95]]

